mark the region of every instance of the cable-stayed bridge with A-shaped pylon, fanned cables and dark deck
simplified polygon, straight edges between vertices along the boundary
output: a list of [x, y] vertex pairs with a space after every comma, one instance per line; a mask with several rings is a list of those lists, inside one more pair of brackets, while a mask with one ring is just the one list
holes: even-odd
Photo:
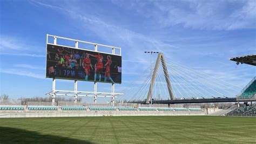
[[[235, 102], [243, 87], [204, 72], [166, 60], [158, 54], [156, 64], [147, 68], [126, 90], [123, 98], [140, 104]], [[228, 77], [228, 76], [227, 76]], [[242, 100], [240, 100], [242, 101]]]

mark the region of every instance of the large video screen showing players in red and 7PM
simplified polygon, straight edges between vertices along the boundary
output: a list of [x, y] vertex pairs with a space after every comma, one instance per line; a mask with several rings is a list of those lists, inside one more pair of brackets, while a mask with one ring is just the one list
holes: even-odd
[[47, 45], [46, 78], [122, 83], [122, 57]]

